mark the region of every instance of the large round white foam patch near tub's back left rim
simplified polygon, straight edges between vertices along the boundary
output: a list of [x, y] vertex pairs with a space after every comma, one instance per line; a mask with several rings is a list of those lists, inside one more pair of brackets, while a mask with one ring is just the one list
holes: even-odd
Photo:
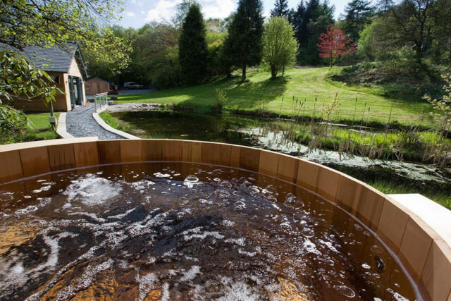
[[82, 204], [94, 206], [103, 204], [113, 197], [118, 197], [121, 191], [122, 188], [119, 183], [91, 176], [75, 180], [66, 188], [63, 195], [68, 196], [68, 202], [76, 200], [82, 202]]

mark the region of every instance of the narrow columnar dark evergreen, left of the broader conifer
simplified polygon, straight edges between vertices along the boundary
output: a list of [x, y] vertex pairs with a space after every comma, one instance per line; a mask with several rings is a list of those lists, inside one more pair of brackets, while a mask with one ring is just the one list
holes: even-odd
[[198, 4], [191, 4], [182, 25], [178, 59], [185, 83], [197, 84], [206, 77], [208, 49], [204, 17]]

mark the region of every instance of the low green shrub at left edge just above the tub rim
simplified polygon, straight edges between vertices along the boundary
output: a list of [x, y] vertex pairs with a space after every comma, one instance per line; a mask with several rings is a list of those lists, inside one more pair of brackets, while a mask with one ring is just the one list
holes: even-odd
[[18, 137], [30, 128], [30, 122], [22, 111], [0, 104], [0, 145], [20, 142]]

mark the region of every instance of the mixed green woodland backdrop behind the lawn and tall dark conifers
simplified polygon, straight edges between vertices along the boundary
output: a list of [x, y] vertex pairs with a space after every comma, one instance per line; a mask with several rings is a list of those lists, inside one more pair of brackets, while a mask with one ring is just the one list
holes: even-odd
[[[149, 23], [139, 29], [113, 26], [113, 35], [125, 39], [132, 48], [130, 63], [120, 74], [101, 63], [89, 63], [89, 74], [118, 85], [138, 81], [159, 89], [209, 82], [223, 75], [230, 76], [237, 69], [242, 70], [244, 80], [243, 65], [259, 66], [264, 45], [248, 45], [255, 50], [247, 52], [242, 51], [244, 47], [233, 45], [249, 40], [262, 43], [261, 1], [240, 0], [238, 10], [228, 18], [204, 20], [207, 49], [204, 74], [195, 82], [187, 82], [180, 66], [179, 47], [183, 21], [192, 5], [193, 1], [183, 1], [172, 20]], [[238, 21], [234, 23], [242, 14], [240, 6], [247, 7], [242, 9], [245, 13], [254, 9], [254, 24], [261, 27], [254, 39], [246, 40], [245, 35], [234, 33], [235, 28], [240, 27], [236, 24]], [[202, 7], [199, 8], [202, 11]], [[299, 45], [297, 65], [349, 66], [332, 75], [332, 80], [377, 86], [378, 93], [390, 97], [419, 99], [426, 93], [438, 95], [443, 83], [440, 74], [449, 71], [451, 62], [451, 23], [448, 21], [451, 20], [451, 0], [381, 0], [374, 6], [371, 1], [352, 0], [338, 20], [334, 20], [333, 13], [334, 7], [328, 0], [302, 0], [295, 8], [289, 8], [287, 0], [276, 0], [271, 17], [283, 17], [290, 22]], [[319, 52], [321, 34], [325, 34], [330, 25], [342, 30], [356, 49], [333, 61]], [[243, 56], [249, 52], [253, 58]], [[244, 58], [245, 62], [230, 62], [230, 57]], [[269, 66], [264, 67], [270, 70]]]

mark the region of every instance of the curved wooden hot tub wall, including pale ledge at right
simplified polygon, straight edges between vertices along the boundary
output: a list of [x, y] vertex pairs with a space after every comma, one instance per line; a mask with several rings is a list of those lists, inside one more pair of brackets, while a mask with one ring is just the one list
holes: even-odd
[[294, 156], [188, 140], [45, 140], [0, 146], [0, 184], [73, 168], [142, 161], [230, 166], [299, 185], [376, 233], [400, 259], [421, 297], [451, 300], [450, 211], [421, 195], [384, 195], [345, 173]]

